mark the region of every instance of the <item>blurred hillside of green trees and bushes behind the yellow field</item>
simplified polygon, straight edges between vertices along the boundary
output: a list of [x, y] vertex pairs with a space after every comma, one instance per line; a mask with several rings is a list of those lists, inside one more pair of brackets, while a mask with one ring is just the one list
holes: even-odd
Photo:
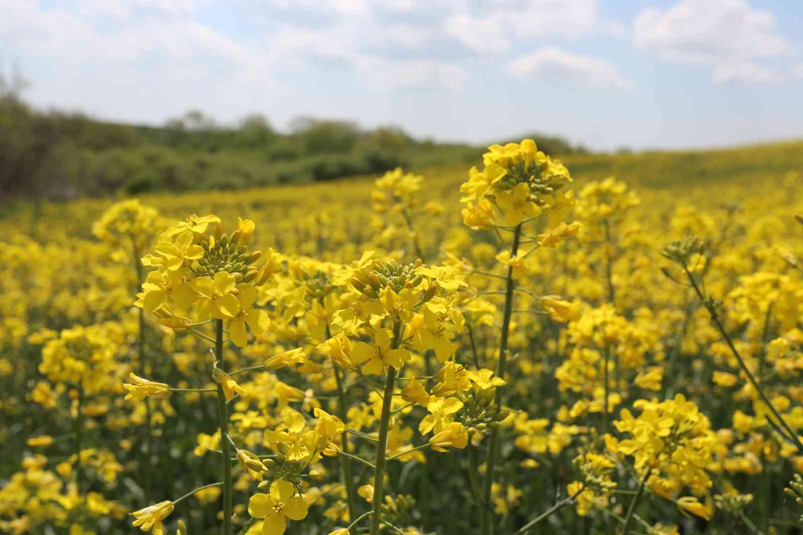
[[[549, 153], [583, 150], [539, 139]], [[369, 130], [311, 117], [294, 120], [290, 133], [259, 115], [222, 126], [197, 111], [158, 128], [120, 125], [42, 112], [0, 91], [0, 191], [7, 197], [239, 190], [467, 163], [481, 153], [482, 147], [417, 140], [394, 126]]]

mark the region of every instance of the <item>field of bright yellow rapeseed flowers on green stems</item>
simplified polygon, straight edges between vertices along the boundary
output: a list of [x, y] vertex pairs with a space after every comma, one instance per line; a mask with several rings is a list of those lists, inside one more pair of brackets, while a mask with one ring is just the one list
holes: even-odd
[[8, 208], [0, 533], [801, 533], [800, 169], [567, 165]]

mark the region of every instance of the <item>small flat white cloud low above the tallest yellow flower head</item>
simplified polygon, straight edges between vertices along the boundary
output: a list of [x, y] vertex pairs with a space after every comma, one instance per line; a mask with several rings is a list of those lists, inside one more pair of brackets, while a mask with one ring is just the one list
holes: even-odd
[[633, 82], [605, 59], [543, 47], [507, 63], [514, 76], [557, 76], [597, 87], [630, 89]]

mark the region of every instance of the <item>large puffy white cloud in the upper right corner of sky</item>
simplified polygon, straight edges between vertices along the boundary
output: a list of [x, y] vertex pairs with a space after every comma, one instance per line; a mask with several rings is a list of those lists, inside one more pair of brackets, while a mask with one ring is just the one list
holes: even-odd
[[634, 44], [669, 61], [708, 65], [717, 83], [775, 83], [780, 73], [758, 61], [793, 51], [775, 26], [771, 13], [746, 0], [682, 0], [666, 10], [642, 10]]

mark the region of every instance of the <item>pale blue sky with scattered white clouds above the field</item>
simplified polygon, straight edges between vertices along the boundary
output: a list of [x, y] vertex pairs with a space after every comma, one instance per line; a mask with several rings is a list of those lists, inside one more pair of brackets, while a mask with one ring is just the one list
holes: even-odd
[[0, 0], [26, 97], [593, 149], [803, 137], [801, 0]]

